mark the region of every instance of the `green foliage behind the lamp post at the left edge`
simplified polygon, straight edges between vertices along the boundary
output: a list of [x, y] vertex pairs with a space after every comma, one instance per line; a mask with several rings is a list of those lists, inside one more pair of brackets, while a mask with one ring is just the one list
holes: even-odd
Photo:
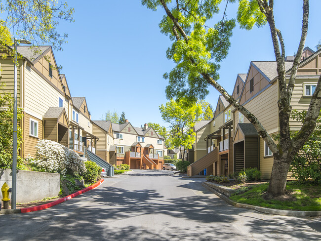
[[[12, 168], [12, 143], [13, 143], [13, 98], [10, 93], [3, 91], [0, 84], [0, 168]], [[17, 122], [22, 119], [22, 110], [17, 111]], [[22, 143], [22, 130], [17, 126], [17, 165], [23, 165], [23, 160], [18, 153]]]

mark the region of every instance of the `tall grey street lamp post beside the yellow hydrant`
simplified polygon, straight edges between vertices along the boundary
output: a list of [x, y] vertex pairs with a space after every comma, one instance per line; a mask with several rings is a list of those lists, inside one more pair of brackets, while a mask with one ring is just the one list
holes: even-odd
[[17, 202], [17, 41], [31, 44], [28, 40], [14, 38], [14, 69], [13, 69], [13, 143], [12, 143], [12, 189], [11, 209], [16, 209]]

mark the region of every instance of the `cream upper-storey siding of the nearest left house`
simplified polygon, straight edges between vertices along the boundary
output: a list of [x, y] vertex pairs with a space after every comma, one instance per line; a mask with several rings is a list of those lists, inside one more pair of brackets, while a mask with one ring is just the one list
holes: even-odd
[[[25, 111], [43, 117], [49, 107], [59, 107], [59, 98], [66, 102], [65, 96], [43, 80], [33, 69], [25, 71]], [[64, 103], [64, 107], [68, 113], [66, 106], [68, 106], [67, 102]]]

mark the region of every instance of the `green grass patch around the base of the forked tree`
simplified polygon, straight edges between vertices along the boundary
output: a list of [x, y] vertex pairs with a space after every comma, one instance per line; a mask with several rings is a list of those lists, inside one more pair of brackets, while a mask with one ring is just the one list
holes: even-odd
[[253, 186], [250, 190], [230, 197], [240, 203], [261, 207], [285, 210], [321, 211], [321, 185], [310, 181], [287, 182], [288, 195], [278, 200], [265, 200], [263, 195], [267, 192], [268, 183]]

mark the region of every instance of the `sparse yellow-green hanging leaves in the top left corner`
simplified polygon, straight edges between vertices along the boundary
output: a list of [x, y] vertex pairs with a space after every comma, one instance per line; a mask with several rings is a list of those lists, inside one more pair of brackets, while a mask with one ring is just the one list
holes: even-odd
[[[69, 8], [67, 2], [56, 0], [7, 1], [1, 4], [0, 9], [5, 16], [1, 25], [13, 29], [15, 38], [27, 39], [36, 45], [48, 44], [56, 49], [62, 49], [68, 37], [57, 32], [59, 20], [74, 21], [74, 8]], [[10, 45], [12, 41], [7, 39], [2, 43]]]

